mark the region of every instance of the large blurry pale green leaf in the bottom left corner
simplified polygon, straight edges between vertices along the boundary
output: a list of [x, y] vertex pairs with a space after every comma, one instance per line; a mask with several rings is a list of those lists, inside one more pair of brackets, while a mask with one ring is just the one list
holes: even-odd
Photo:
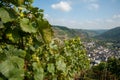
[[0, 63], [0, 72], [10, 80], [22, 80], [24, 78], [24, 60], [11, 56]]

